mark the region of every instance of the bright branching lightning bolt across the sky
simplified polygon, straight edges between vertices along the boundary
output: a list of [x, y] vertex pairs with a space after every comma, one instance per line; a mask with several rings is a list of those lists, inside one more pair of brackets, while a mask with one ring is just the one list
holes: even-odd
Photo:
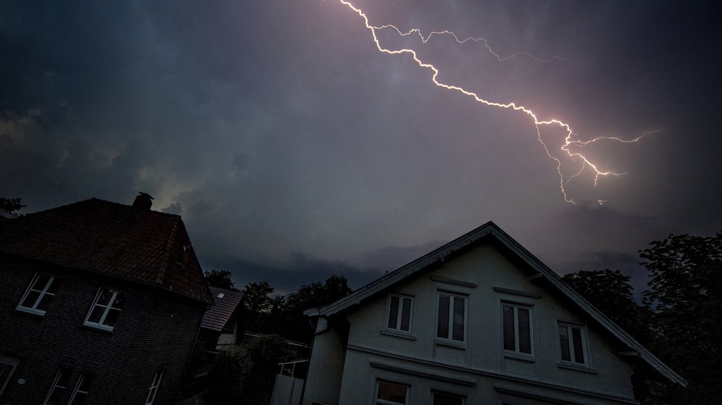
[[[593, 161], [591, 161], [586, 156], [584, 156], [583, 153], [581, 153], [580, 151], [572, 151], [570, 149], [570, 147], [583, 148], [584, 146], [588, 146], [592, 143], [597, 143], [597, 142], [601, 142], [601, 141], [614, 141], [614, 142], [619, 142], [619, 143], [635, 143], [635, 142], [640, 141], [640, 139], [643, 138], [645, 135], [650, 135], [651, 133], [656, 133], [656, 132], [661, 131], [661, 130], [645, 131], [642, 135], [639, 135], [636, 138], [632, 138], [632, 139], [628, 139], [628, 140], [614, 137], [614, 136], [599, 136], [597, 138], [592, 138], [589, 141], [581, 141], [578, 138], [578, 134], [576, 134], [574, 132], [574, 130], [571, 128], [571, 126], [560, 120], [556, 120], [556, 119], [540, 120], [539, 117], [536, 117], [536, 114], [532, 110], [530, 110], [527, 107], [524, 107], [521, 104], [517, 104], [516, 102], [504, 103], [504, 102], [490, 101], [490, 100], [482, 98], [481, 96], [479, 96], [479, 94], [477, 94], [475, 92], [470, 92], [469, 90], [466, 90], [460, 86], [456, 86], [453, 84], [445, 84], [445, 83], [439, 81], [438, 80], [438, 74], [439, 74], [438, 68], [436, 68], [431, 63], [422, 61], [419, 58], [419, 56], [417, 55], [416, 50], [409, 49], [409, 48], [402, 48], [402, 49], [396, 49], [396, 50], [384, 48], [381, 45], [380, 40], [378, 39], [377, 32], [381, 31], [381, 30], [395, 30], [398, 33], [398, 35], [400, 35], [400, 36], [409, 36], [409, 35], [415, 34], [421, 38], [422, 43], [427, 43], [433, 35], [451, 35], [451, 37], [453, 37], [453, 39], [456, 40], [456, 42], [460, 43], [460, 44], [466, 43], [468, 41], [483, 43], [484, 47], [487, 48], [487, 50], [490, 53], [492, 53], [492, 55], [495, 55], [495, 57], [497, 58], [497, 61], [500, 61], [500, 62], [507, 61], [508, 59], [514, 58], [516, 56], [526, 56], [526, 57], [533, 59], [534, 61], [541, 62], [541, 63], [550, 63], [554, 60], [559, 60], [559, 61], [570, 61], [570, 60], [565, 60], [564, 58], [560, 58], [559, 56], [554, 56], [552, 58], [544, 60], [544, 59], [536, 58], [536, 56], [531, 55], [531, 53], [527, 53], [527, 52], [513, 53], [513, 54], [508, 55], [503, 58], [503, 57], [501, 57], [500, 53], [497, 53], [494, 49], [492, 49], [492, 47], [489, 45], [487, 40], [485, 40], [484, 38], [467, 37], [464, 40], [460, 40], [456, 34], [454, 34], [451, 31], [446, 31], [446, 30], [445, 31], [433, 31], [425, 36], [422, 34], [421, 30], [419, 30], [418, 28], [414, 28], [412, 30], [402, 32], [401, 30], [399, 30], [399, 28], [397, 28], [394, 25], [374, 26], [374, 25], [371, 25], [367, 15], [364, 12], [362, 12], [361, 9], [357, 8], [356, 6], [354, 6], [347, 0], [339, 0], [339, 2], [341, 4], [343, 4], [344, 6], [347, 6], [349, 9], [351, 9], [352, 12], [357, 14], [363, 20], [366, 29], [371, 32], [371, 36], [373, 37], [373, 43], [375, 44], [375, 46], [379, 52], [386, 53], [388, 55], [409, 55], [414, 60], [414, 62], [417, 63], [417, 65], [420, 68], [425, 68], [432, 72], [431, 81], [436, 86], [439, 86], [443, 89], [451, 90], [453, 92], [459, 92], [468, 97], [471, 97], [471, 99], [474, 99], [475, 102], [487, 105], [489, 107], [499, 107], [499, 108], [505, 108], [505, 109], [510, 109], [510, 110], [515, 110], [515, 111], [521, 112], [523, 114], [526, 114], [531, 120], [533, 120], [534, 127], [536, 128], [537, 140], [539, 141], [539, 143], [541, 143], [541, 146], [544, 148], [544, 151], [546, 151], [547, 156], [549, 156], [550, 159], [553, 159], [554, 161], [557, 162], [557, 173], [559, 174], [559, 188], [562, 193], [562, 196], [564, 197], [564, 200], [567, 203], [575, 204], [575, 201], [573, 200], [573, 198], [571, 198], [567, 194], [567, 190], [565, 189], [565, 186], [572, 179], [580, 176], [580, 174], [582, 174], [586, 169], [591, 170], [591, 172], [593, 174], [593, 184], [595, 187], [596, 187], [597, 182], [599, 181], [599, 177], [602, 177], [602, 176], [619, 177], [624, 174], [627, 174], [627, 172], [617, 173], [617, 172], [612, 172], [611, 170], [601, 170], [601, 169], [599, 169], [598, 164], [593, 163]], [[571, 62], [580, 63], [580, 62], [576, 62], [576, 61], [571, 61]], [[544, 143], [544, 141], [541, 139], [541, 127], [543, 127], [543, 126], [558, 127], [558, 128], [561, 128], [566, 133], [566, 135], [564, 137], [564, 143], [560, 147], [560, 151], [562, 151], [562, 153], [565, 153], [566, 156], [568, 156], [573, 161], [581, 162], [581, 167], [578, 172], [576, 172], [575, 174], [573, 174], [569, 177], [565, 177], [565, 175], [562, 173], [561, 159], [554, 156], [554, 154], [552, 154], [552, 152], [549, 151], [549, 147], [547, 147], [547, 144]], [[597, 203], [599, 203], [599, 205], [602, 205], [602, 204], [606, 203], [606, 200], [597, 200]]]

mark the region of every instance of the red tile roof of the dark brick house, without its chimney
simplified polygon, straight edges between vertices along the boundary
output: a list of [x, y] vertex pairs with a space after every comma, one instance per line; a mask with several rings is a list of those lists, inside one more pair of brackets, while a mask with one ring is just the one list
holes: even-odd
[[154, 285], [212, 303], [178, 215], [93, 198], [0, 222], [0, 253]]

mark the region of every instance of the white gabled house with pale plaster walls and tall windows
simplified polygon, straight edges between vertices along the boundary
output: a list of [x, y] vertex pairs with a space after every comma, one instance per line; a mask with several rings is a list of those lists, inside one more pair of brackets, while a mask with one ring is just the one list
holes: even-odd
[[328, 306], [303, 405], [638, 404], [686, 382], [494, 223]]

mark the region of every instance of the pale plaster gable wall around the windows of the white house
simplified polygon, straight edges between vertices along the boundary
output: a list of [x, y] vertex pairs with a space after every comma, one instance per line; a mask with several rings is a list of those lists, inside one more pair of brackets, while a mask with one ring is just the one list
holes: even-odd
[[[477, 286], [468, 287], [434, 281], [430, 279], [432, 275], [473, 282]], [[566, 308], [570, 305], [569, 303], [560, 301], [551, 291], [532, 284], [529, 281], [530, 276], [531, 274], [526, 274], [515, 267], [495, 247], [483, 245], [449, 260], [436, 270], [414, 277], [410, 282], [390, 291], [414, 295], [412, 339], [381, 333], [386, 314], [386, 293], [365, 303], [359, 311], [349, 313], [351, 324], [349, 347], [362, 348], [375, 354], [349, 350], [344, 366], [341, 404], [369, 404], [370, 401], [373, 401], [376, 378], [386, 378], [383, 377], [384, 373], [391, 372], [371, 368], [370, 361], [375, 358], [385, 358], [384, 353], [399, 353], [404, 359], [409, 359], [409, 362], [415, 364], [417, 368], [427, 367], [428, 362], [437, 362], [448, 364], [450, 366], [448, 370], [452, 370], [454, 373], [458, 370], [470, 369], [477, 372], [476, 374], [470, 373], [470, 375], [474, 375], [476, 380], [487, 381], [486, 385], [489, 385], [490, 378], [493, 380], [493, 376], [498, 375], [500, 381], [506, 381], [503, 383], [505, 385], [516, 384], [519, 386], [521, 384], [523, 386], [523, 381], [528, 380], [547, 383], [551, 387], [564, 386], [578, 391], [632, 399], [630, 380], [632, 369], [617, 357], [615, 348], [609, 344], [609, 337], [602, 334], [595, 325], [589, 324], [586, 319], [580, 318], [580, 314], [576, 310], [570, 311], [569, 308]], [[539, 298], [500, 293], [494, 290], [495, 287], [539, 295]], [[464, 349], [447, 347], [435, 342], [437, 290], [468, 295], [466, 347]], [[502, 301], [523, 303], [534, 307], [533, 362], [518, 361], [513, 356], [509, 357], [503, 354]], [[557, 365], [560, 362], [557, 331], [557, 321], [559, 320], [580, 321], [588, 325], [590, 370], [568, 370]], [[406, 360], [398, 358], [389, 360], [386, 357], [386, 360], [383, 361], [402, 362]], [[411, 376], [406, 376], [406, 378], [409, 377]], [[402, 376], [396, 375], [394, 378], [402, 378]], [[412, 377], [412, 380], [418, 381], [423, 378]], [[403, 380], [398, 381], [403, 382]], [[487, 389], [487, 393], [477, 394], [477, 391], [482, 389], [479, 388], [482, 385], [484, 384], [477, 383], [477, 388], [471, 389], [468, 404], [474, 403], [471, 401], [471, 396], [479, 396], [479, 399], [484, 399], [484, 401], [492, 398], [499, 401], [500, 396], [493, 390], [493, 387], [491, 391]], [[421, 391], [424, 389], [426, 388]], [[534, 389], [541, 390], [539, 386]], [[549, 388], [549, 390], [555, 391], [553, 388]], [[557, 396], [575, 398], [573, 393], [557, 391], [555, 391]], [[425, 403], [425, 400], [417, 400], [419, 401], [411, 403]], [[577, 400], [580, 399], [577, 398]], [[590, 402], [589, 399], [584, 401]], [[604, 401], [599, 399], [599, 402]]]

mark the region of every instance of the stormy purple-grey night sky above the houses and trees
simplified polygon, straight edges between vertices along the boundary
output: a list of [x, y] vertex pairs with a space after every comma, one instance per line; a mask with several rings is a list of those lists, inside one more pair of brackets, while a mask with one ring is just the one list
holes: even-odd
[[[557, 273], [722, 230], [716, 1], [3, 1], [0, 196], [183, 216], [205, 270], [352, 288], [487, 221]], [[451, 35], [432, 35], [449, 30]], [[488, 48], [487, 48], [488, 46]], [[581, 172], [580, 170], [583, 169]], [[578, 174], [575, 176], [575, 174]], [[599, 204], [599, 200], [605, 201]]]

